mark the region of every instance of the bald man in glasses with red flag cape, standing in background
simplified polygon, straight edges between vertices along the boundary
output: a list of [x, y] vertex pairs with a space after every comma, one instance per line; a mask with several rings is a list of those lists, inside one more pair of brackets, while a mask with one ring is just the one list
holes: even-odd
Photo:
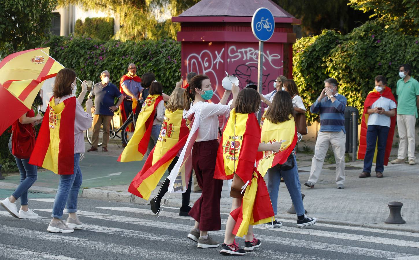
[[[122, 76], [119, 82], [119, 91], [124, 95], [124, 101], [121, 103], [121, 119], [123, 124], [127, 121], [129, 114], [137, 107], [140, 93], [143, 90], [141, 78], [137, 76], [137, 66], [134, 63], [128, 65], [128, 73]], [[133, 126], [128, 126], [130, 131], [134, 131]], [[124, 144], [126, 145], [126, 144]]]

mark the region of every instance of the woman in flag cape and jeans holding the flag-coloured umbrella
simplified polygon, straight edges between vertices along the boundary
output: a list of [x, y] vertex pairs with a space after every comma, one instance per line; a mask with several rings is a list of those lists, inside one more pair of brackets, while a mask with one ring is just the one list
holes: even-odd
[[[57, 194], [52, 206], [53, 219], [47, 229], [55, 233], [72, 233], [74, 228], [83, 227], [76, 216], [78, 192], [83, 179], [79, 162], [80, 153], [84, 152], [83, 131], [92, 126], [93, 101], [86, 101], [85, 112], [80, 104], [87, 93], [85, 82], [78, 99], [75, 93], [74, 70], [60, 70], [29, 161], [30, 164], [59, 174]], [[69, 217], [64, 222], [61, 218], [66, 205]]]

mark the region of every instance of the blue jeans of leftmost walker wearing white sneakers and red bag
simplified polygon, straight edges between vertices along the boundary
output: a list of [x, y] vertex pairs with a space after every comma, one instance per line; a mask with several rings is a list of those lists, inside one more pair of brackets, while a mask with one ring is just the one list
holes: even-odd
[[29, 159], [19, 159], [15, 156], [15, 160], [21, 173], [21, 183], [12, 195], [16, 199], [21, 198], [21, 205], [28, 205], [28, 189], [38, 178], [38, 167], [29, 164]]

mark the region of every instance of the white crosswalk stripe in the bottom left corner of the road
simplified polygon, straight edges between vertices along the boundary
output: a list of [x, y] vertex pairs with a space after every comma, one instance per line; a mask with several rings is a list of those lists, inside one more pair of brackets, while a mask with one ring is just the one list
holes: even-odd
[[[22, 247], [13, 245], [0, 244], [0, 256], [13, 257], [13, 259], [21, 260], [44, 260], [44, 259], [55, 259], [55, 260], [75, 260], [75, 258], [67, 257], [64, 255], [53, 255], [47, 252], [40, 252], [34, 250], [26, 250]], [[80, 259], [80, 258], [79, 258]]]

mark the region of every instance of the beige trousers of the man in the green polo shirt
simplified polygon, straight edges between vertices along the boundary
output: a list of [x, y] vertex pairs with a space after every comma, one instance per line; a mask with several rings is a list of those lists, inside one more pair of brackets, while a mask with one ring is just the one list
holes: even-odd
[[415, 160], [415, 124], [416, 116], [397, 115], [397, 130], [400, 137], [398, 159], [406, 159], [407, 154], [409, 160]]

